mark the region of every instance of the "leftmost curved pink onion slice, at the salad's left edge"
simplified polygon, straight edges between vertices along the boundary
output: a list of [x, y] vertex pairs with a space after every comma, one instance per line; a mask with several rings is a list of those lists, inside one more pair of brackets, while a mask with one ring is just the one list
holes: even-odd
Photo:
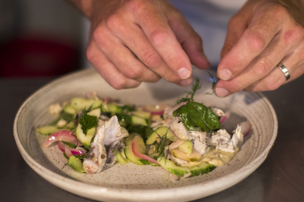
[[48, 136], [47, 140], [42, 144], [42, 147], [48, 147], [56, 141], [65, 141], [75, 144], [75, 146], [82, 146], [82, 143], [77, 140], [76, 135], [72, 135], [72, 133], [71, 130], [59, 130]]

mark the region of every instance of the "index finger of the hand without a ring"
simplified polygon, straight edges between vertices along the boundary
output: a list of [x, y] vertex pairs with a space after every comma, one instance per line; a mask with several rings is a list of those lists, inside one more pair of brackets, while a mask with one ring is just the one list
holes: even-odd
[[187, 79], [192, 72], [191, 62], [182, 49], [165, 17], [156, 6], [141, 6], [134, 16], [152, 46], [180, 79]]

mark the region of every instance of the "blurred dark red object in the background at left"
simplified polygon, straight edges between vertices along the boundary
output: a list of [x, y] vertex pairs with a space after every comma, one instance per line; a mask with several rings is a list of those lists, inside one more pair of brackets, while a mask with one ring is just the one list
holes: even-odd
[[69, 43], [34, 37], [0, 47], [0, 76], [59, 76], [79, 68], [79, 51]]

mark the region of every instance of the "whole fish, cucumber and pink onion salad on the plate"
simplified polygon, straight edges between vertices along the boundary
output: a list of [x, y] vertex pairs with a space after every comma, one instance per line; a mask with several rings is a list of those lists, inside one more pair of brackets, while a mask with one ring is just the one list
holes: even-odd
[[49, 112], [58, 118], [37, 132], [42, 147], [58, 145], [76, 172], [94, 174], [115, 163], [161, 166], [174, 180], [208, 173], [228, 163], [239, 151], [248, 121], [231, 134], [221, 128], [229, 113], [194, 102], [192, 92], [173, 106], [121, 104], [96, 93], [56, 103]]

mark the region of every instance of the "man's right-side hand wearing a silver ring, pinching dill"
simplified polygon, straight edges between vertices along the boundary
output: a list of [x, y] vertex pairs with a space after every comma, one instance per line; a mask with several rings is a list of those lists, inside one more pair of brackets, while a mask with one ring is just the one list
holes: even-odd
[[239, 90], [266, 91], [304, 73], [304, 2], [249, 0], [230, 19], [215, 86], [219, 97]]

